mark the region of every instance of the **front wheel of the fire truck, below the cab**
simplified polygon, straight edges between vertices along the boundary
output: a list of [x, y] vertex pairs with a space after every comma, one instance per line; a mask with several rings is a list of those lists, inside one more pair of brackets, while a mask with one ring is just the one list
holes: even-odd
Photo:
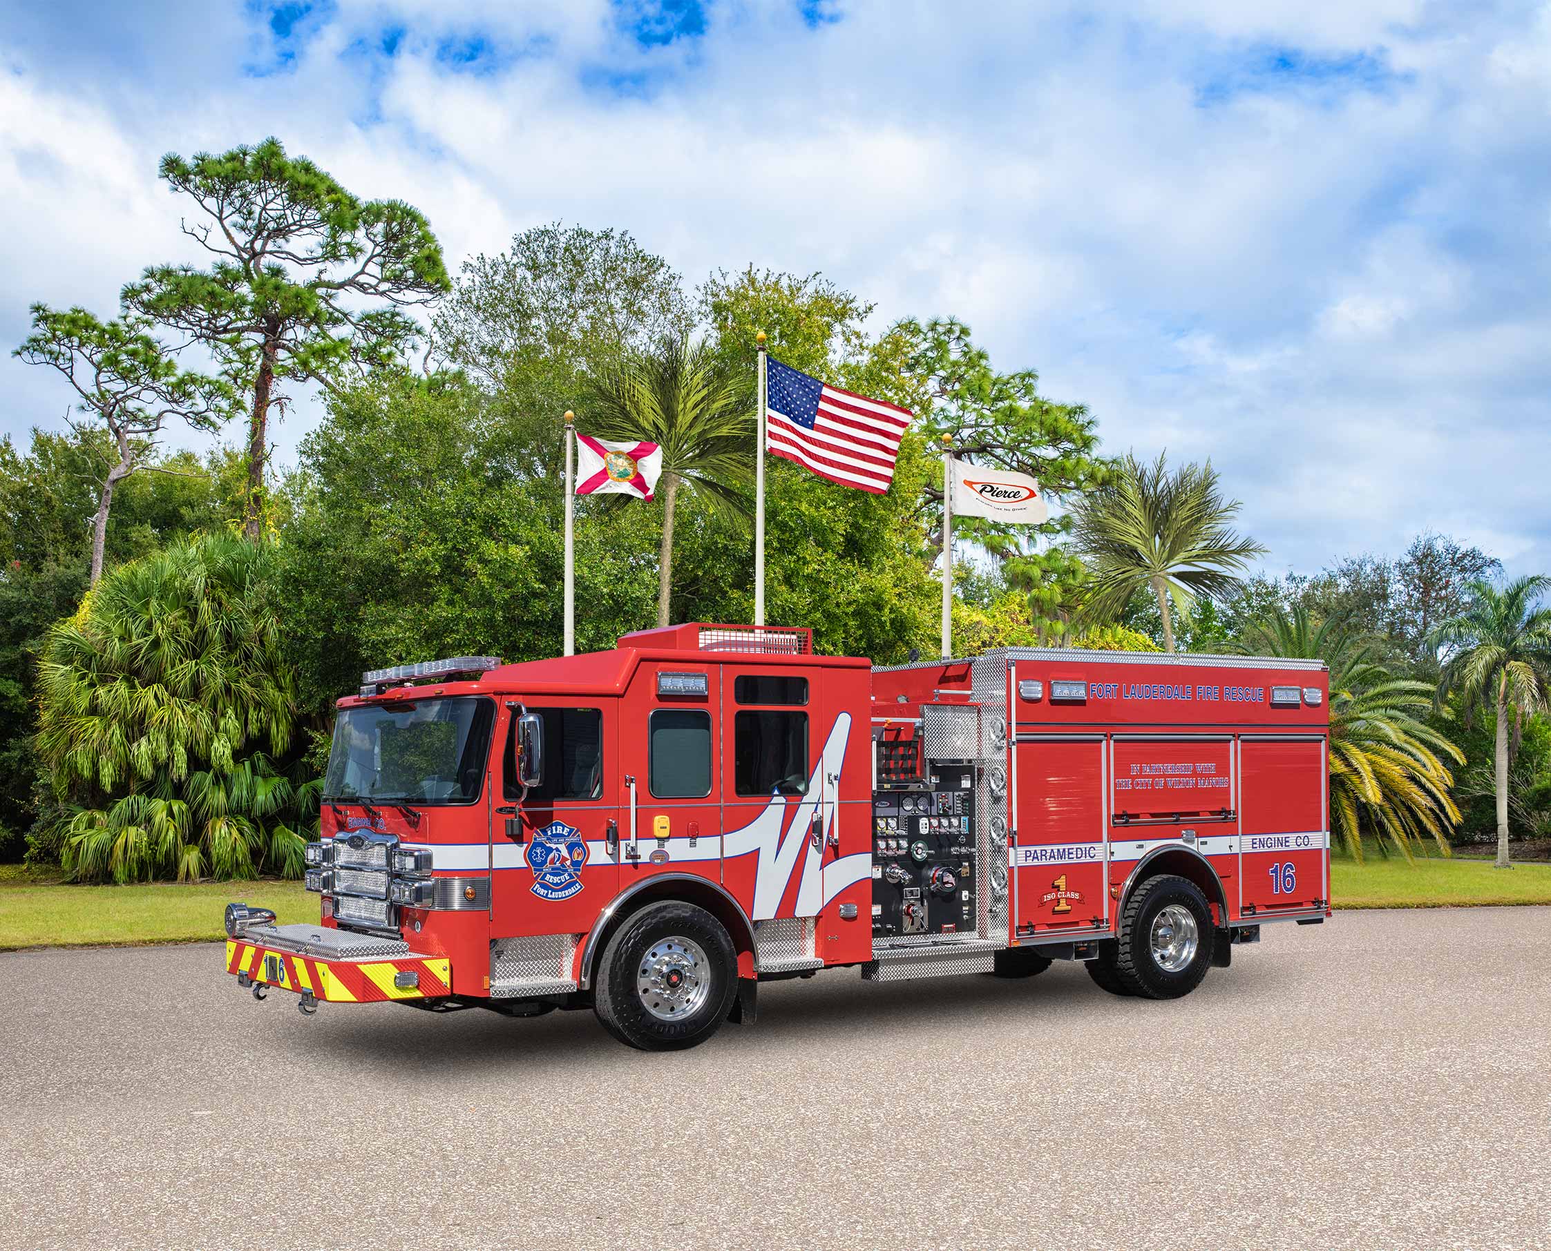
[[653, 904], [603, 949], [592, 1006], [603, 1028], [642, 1051], [682, 1051], [721, 1026], [738, 989], [727, 932], [693, 904]]

